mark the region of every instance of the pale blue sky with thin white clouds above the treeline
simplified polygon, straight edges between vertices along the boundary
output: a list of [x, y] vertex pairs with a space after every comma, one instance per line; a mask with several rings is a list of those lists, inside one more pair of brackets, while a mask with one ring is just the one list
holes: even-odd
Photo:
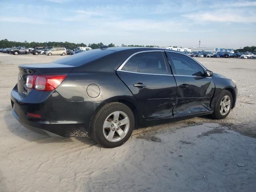
[[0, 0], [0, 39], [240, 48], [256, 0]]

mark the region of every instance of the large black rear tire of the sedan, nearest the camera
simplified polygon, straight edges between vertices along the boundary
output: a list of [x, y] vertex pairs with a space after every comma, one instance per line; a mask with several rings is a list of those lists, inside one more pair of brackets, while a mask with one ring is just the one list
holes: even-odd
[[[118, 117], [115, 117], [114, 113], [118, 114]], [[126, 121], [122, 121], [123, 117]], [[114, 118], [117, 119], [115, 122]], [[121, 121], [126, 122], [126, 124], [119, 126], [118, 123]], [[106, 124], [105, 128], [103, 128], [104, 124]], [[94, 117], [91, 125], [91, 135], [94, 141], [101, 146], [105, 148], [114, 148], [124, 144], [130, 138], [133, 129], [134, 114], [132, 113], [132, 110], [125, 104], [111, 102], [104, 105]], [[112, 137], [110, 136], [110, 132], [114, 132]], [[121, 137], [118, 132], [124, 135]], [[109, 136], [110, 138], [107, 139]]]

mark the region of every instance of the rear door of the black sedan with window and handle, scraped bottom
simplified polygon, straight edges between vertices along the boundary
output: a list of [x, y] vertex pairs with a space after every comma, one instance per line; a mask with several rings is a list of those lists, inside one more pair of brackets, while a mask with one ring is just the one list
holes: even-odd
[[177, 88], [167, 62], [164, 51], [139, 52], [117, 70], [148, 120], [173, 117]]

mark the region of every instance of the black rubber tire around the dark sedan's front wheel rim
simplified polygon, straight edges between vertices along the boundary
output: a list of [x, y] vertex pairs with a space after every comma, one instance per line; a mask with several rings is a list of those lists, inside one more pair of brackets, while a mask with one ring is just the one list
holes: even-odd
[[[222, 109], [221, 107], [221, 102], [224, 99], [224, 97], [228, 96], [230, 98], [230, 105], [229, 108], [227, 109], [227, 111], [225, 111], [225, 114], [222, 114], [220, 111]], [[226, 103], [226, 101], [225, 101]], [[213, 114], [212, 117], [215, 119], [224, 119], [228, 116], [228, 114], [231, 111], [232, 108], [232, 103], [233, 103], [233, 97], [232, 94], [228, 91], [228, 90], [223, 90], [220, 95], [218, 96], [218, 98], [216, 99], [216, 102], [214, 104], [214, 110], [213, 110]], [[226, 105], [226, 104], [224, 104]], [[224, 112], [224, 110], [223, 110]]]

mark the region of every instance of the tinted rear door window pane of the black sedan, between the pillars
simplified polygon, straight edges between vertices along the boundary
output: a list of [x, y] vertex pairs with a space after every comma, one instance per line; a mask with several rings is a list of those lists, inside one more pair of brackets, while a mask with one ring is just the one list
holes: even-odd
[[140, 73], [167, 74], [162, 52], [145, 52], [136, 54]]

